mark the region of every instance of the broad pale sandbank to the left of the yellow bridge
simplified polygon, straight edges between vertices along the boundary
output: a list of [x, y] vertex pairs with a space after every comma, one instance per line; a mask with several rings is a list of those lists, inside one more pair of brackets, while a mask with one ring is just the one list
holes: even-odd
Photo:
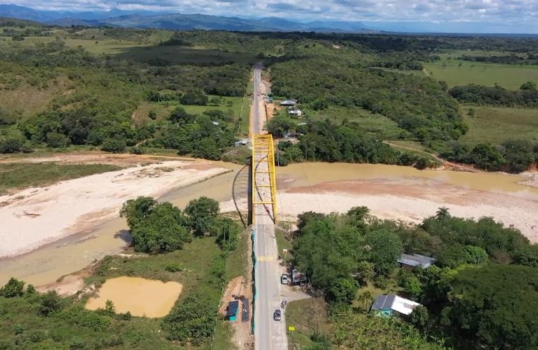
[[143, 165], [0, 196], [0, 258], [91, 230], [118, 217], [131, 198], [159, 197], [229, 171], [206, 161], [139, 162]]

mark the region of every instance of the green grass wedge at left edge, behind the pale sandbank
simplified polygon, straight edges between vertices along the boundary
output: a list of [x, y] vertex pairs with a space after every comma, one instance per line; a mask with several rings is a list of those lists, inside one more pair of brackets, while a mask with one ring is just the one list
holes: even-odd
[[45, 186], [57, 181], [113, 172], [120, 167], [102, 164], [6, 163], [0, 165], [0, 194], [8, 190]]

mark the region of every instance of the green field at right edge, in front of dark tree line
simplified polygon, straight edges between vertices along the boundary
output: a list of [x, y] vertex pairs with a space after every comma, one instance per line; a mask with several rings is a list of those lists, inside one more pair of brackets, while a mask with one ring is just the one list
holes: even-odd
[[[474, 116], [469, 116], [471, 108]], [[538, 141], [538, 109], [462, 106], [462, 114], [469, 132], [460, 141], [466, 144], [500, 144], [507, 139]]]

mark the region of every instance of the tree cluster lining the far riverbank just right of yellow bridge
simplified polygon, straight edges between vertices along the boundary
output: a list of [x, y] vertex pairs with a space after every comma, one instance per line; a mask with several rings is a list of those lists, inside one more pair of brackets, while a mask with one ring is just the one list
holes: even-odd
[[288, 117], [276, 116], [267, 123], [267, 130], [276, 137], [285, 132], [302, 134], [299, 144], [278, 144], [279, 165], [303, 160], [414, 165], [420, 169], [437, 165], [431, 158], [395, 151], [354, 123], [338, 125], [324, 120], [297, 126]]

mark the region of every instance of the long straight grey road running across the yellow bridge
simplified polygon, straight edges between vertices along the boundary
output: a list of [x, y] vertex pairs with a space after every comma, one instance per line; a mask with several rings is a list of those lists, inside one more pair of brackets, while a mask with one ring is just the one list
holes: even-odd
[[[265, 120], [260, 120], [258, 106], [261, 97], [261, 64], [255, 66], [254, 69], [254, 93], [253, 93], [253, 130], [261, 133]], [[255, 182], [259, 185], [269, 184], [267, 172], [267, 161], [264, 162], [266, 155], [257, 155], [254, 160], [254, 165], [257, 167]], [[267, 158], [265, 158], [267, 160]], [[260, 201], [269, 202], [271, 193], [269, 188], [259, 188], [257, 196]], [[273, 313], [281, 305], [281, 284], [278, 269], [278, 248], [276, 246], [274, 223], [269, 215], [271, 206], [263, 204], [255, 204], [255, 237], [254, 250], [257, 257], [255, 265], [255, 286], [256, 297], [254, 305], [254, 337], [255, 350], [271, 350], [271, 349], [288, 349], [288, 339], [285, 332], [284, 310], [282, 311], [281, 321], [274, 321]]]

